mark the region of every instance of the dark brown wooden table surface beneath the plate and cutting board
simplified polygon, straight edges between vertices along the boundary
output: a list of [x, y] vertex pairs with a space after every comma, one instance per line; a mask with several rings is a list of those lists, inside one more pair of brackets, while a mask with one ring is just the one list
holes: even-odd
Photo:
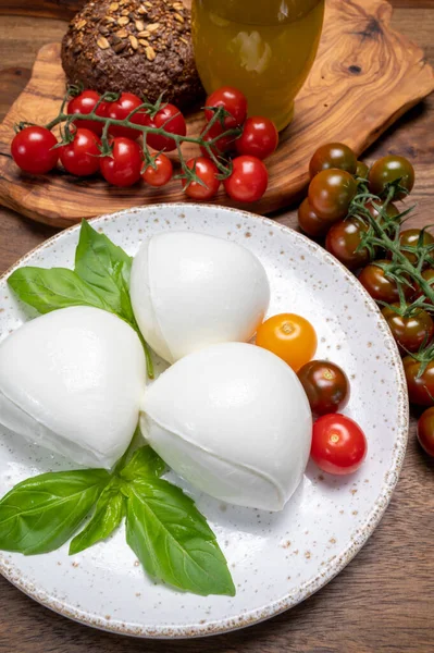
[[[395, 27], [434, 64], [434, 0], [395, 0]], [[55, 8], [58, 5], [58, 8]], [[25, 11], [23, 12], [23, 7]], [[54, 7], [54, 12], [53, 8]], [[0, 0], [0, 119], [23, 89], [37, 50], [59, 40], [60, 10], [74, 0]], [[25, 15], [22, 15], [22, 14]], [[33, 14], [33, 15], [30, 15]], [[434, 223], [434, 97], [413, 109], [367, 153], [409, 157], [417, 170], [413, 225]], [[277, 220], [294, 226], [295, 212]], [[54, 230], [0, 208], [0, 272]], [[385, 517], [357, 558], [321, 592], [268, 623], [189, 642], [122, 638], [67, 621], [0, 577], [1, 653], [381, 653], [434, 651], [434, 465], [412, 419], [401, 477]]]

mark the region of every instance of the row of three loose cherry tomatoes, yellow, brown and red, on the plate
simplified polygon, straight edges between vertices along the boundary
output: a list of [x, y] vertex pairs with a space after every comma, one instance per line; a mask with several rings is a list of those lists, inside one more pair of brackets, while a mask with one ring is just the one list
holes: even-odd
[[257, 345], [273, 352], [298, 374], [318, 417], [312, 430], [312, 460], [327, 473], [357, 471], [367, 457], [367, 438], [352, 419], [338, 412], [348, 404], [349, 380], [337, 365], [312, 360], [318, 345], [312, 324], [293, 313], [273, 316], [258, 329]]

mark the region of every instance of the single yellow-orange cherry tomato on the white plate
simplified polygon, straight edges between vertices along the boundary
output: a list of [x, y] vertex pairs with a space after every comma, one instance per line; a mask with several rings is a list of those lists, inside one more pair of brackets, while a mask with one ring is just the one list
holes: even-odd
[[315, 355], [318, 338], [308, 320], [294, 313], [282, 313], [260, 325], [257, 345], [273, 352], [298, 372]]

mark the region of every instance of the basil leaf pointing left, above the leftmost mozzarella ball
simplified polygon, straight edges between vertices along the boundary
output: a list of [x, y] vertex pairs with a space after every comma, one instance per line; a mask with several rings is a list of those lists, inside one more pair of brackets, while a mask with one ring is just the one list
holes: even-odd
[[20, 268], [8, 279], [8, 284], [22, 301], [40, 313], [69, 306], [94, 306], [111, 310], [91, 286], [66, 268]]

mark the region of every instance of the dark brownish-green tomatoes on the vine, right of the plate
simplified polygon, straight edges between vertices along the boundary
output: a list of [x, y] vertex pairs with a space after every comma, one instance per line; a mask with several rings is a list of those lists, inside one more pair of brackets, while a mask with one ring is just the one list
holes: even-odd
[[[390, 155], [369, 168], [348, 146], [333, 143], [314, 152], [309, 172], [308, 197], [298, 210], [301, 230], [315, 239], [325, 238], [325, 248], [357, 272], [379, 303], [404, 357], [410, 402], [433, 407], [434, 305], [426, 285], [434, 288], [434, 236], [420, 229], [400, 231], [402, 215], [392, 201], [411, 193], [413, 167]], [[369, 232], [374, 236], [371, 247]], [[414, 273], [420, 284], [425, 282], [424, 292]], [[430, 455], [434, 455], [432, 410], [419, 424], [420, 442]]]

